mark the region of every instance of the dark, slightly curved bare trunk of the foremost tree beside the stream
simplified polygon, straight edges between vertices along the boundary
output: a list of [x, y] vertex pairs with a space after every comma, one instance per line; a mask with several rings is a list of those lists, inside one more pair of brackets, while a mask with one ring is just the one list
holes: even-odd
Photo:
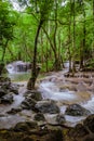
[[42, 24], [43, 24], [43, 21], [40, 20], [38, 28], [37, 28], [36, 38], [35, 38], [31, 78], [29, 79], [29, 81], [27, 84], [27, 89], [29, 89], [29, 90], [35, 89], [35, 84], [36, 84], [36, 80], [37, 80], [37, 77], [38, 77], [39, 70], [40, 70], [40, 67], [37, 67], [37, 44], [38, 44], [38, 37], [40, 34]]

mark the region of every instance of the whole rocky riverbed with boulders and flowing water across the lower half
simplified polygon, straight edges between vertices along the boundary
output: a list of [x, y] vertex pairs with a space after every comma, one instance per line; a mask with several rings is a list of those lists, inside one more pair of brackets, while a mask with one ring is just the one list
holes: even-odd
[[94, 140], [94, 112], [89, 106], [94, 94], [93, 77], [85, 76], [49, 74], [38, 80], [32, 91], [26, 89], [26, 82], [13, 84], [0, 77], [1, 140]]

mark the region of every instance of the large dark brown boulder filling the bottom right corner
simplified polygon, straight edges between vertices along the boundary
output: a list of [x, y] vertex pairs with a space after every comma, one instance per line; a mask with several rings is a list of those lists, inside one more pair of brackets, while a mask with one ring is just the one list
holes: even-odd
[[94, 114], [88, 116], [83, 124], [71, 128], [67, 136], [70, 141], [94, 141]]

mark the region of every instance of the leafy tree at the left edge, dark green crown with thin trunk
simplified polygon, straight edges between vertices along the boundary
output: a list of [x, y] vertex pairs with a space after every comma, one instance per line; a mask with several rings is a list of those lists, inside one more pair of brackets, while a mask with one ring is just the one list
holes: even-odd
[[13, 27], [15, 25], [15, 20], [13, 17], [13, 12], [10, 11], [10, 4], [4, 1], [0, 1], [0, 48], [2, 49], [2, 56], [0, 59], [0, 75], [4, 66], [4, 55], [8, 43], [13, 39]]

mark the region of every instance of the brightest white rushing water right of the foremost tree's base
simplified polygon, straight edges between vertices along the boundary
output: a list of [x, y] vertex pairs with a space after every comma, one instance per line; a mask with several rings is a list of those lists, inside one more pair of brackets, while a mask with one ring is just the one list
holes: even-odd
[[54, 82], [42, 82], [40, 85], [40, 91], [42, 92], [43, 99], [51, 99], [55, 101], [72, 101], [78, 99], [78, 95], [73, 91], [61, 92]]

